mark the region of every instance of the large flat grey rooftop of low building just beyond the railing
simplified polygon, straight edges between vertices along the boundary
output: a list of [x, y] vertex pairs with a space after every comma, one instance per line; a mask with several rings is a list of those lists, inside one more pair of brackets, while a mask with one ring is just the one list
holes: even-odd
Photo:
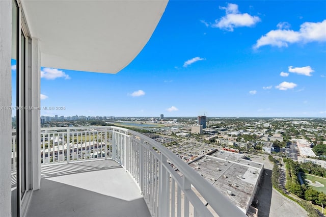
[[189, 165], [243, 212], [247, 212], [263, 165], [242, 157], [242, 154], [217, 151], [212, 156], [205, 155]]

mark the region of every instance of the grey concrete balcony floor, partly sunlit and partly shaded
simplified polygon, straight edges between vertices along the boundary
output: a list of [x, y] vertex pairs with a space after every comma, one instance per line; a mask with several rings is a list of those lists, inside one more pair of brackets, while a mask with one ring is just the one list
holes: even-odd
[[140, 189], [113, 160], [41, 167], [41, 187], [26, 216], [151, 216]]

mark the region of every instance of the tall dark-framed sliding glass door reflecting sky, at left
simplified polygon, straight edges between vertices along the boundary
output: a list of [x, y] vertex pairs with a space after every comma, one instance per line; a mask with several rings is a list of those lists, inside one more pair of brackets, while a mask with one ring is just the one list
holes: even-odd
[[[32, 189], [32, 39], [19, 2], [12, 10], [12, 216], [23, 216]], [[14, 65], [15, 64], [15, 65]]]

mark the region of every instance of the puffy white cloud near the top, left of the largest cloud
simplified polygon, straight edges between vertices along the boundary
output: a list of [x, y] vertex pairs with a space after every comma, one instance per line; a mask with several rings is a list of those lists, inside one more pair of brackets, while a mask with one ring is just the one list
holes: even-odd
[[251, 16], [248, 13], [241, 14], [238, 10], [238, 5], [228, 3], [227, 7], [219, 7], [225, 10], [225, 16], [216, 19], [215, 23], [211, 24], [212, 28], [220, 28], [226, 31], [233, 32], [234, 28], [241, 26], [253, 26], [260, 21], [257, 16]]

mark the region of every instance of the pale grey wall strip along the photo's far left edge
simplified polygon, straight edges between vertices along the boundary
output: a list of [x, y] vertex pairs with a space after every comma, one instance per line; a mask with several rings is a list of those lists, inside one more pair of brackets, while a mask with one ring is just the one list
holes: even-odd
[[[11, 106], [12, 1], [0, 1], [0, 106]], [[11, 216], [11, 110], [0, 110], [0, 215]]]

